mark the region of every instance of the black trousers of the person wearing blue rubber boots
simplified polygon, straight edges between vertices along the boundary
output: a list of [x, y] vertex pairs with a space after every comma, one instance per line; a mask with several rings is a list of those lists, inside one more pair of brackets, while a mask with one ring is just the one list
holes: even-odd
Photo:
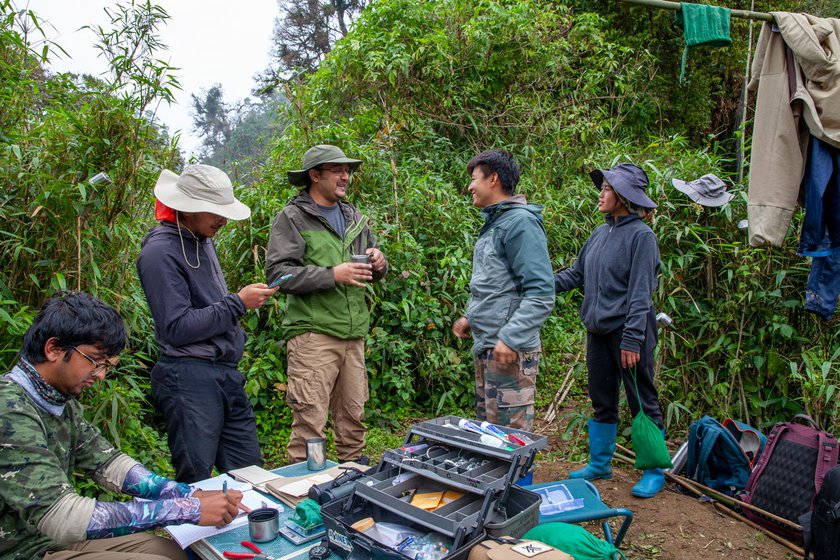
[[[639, 412], [639, 399], [633, 384], [633, 370], [621, 367], [621, 335], [623, 329], [607, 334], [586, 334], [586, 367], [589, 371], [589, 398], [592, 400], [596, 422], [618, 423], [618, 391], [624, 383], [630, 412], [635, 418]], [[645, 326], [645, 340], [642, 343], [639, 363], [636, 364], [636, 381], [642, 410], [660, 428], [662, 411], [659, 395], [653, 384], [653, 350], [656, 348], [656, 315], [651, 309]]]

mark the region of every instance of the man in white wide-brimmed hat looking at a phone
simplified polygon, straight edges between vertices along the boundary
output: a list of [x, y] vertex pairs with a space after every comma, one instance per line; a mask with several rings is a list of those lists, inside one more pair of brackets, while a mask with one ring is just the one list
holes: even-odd
[[233, 196], [230, 178], [209, 165], [181, 175], [163, 170], [156, 217], [143, 239], [137, 272], [155, 320], [160, 357], [152, 400], [166, 421], [179, 482], [261, 465], [256, 421], [236, 369], [245, 347], [239, 319], [277, 289], [250, 284], [228, 292], [213, 236], [251, 210]]

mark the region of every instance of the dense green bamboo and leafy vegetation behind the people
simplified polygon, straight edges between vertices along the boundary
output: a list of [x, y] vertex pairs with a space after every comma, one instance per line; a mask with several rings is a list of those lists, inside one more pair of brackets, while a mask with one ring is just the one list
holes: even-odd
[[[820, 13], [819, 3], [809, 6]], [[165, 46], [156, 29], [167, 16], [150, 3], [115, 9], [114, 30], [99, 39], [112, 71], [92, 79], [49, 74], [54, 47], [36, 40], [36, 16], [15, 13], [9, 0], [0, 0], [0, 15], [0, 361], [12, 363], [33, 309], [56, 288], [80, 287], [117, 306], [130, 328], [123, 367], [85, 401], [123, 448], [168, 472], [167, 454], [156, 453], [165, 449], [160, 422], [145, 400], [156, 347], [134, 273], [153, 220], [154, 180], [181, 164], [150, 113], [177, 87], [159, 62]], [[837, 320], [801, 309], [808, 263], [795, 254], [795, 234], [783, 248], [753, 249], [736, 227], [746, 217], [737, 148], [744, 135], [749, 142], [738, 101], [750, 24], [733, 20], [728, 49], [692, 51], [681, 86], [672, 18], [600, 1], [371, 3], [316, 72], [285, 84], [283, 126], [263, 165], [249, 166], [253, 182], [238, 191], [252, 218], [217, 237], [228, 285], [263, 279], [271, 220], [295, 192], [285, 171], [306, 148], [330, 142], [363, 158], [351, 199], [373, 218], [392, 269], [371, 288], [367, 340], [369, 423], [373, 439], [387, 443], [388, 430], [406, 419], [471, 406], [469, 346], [450, 332], [480, 226], [466, 196], [466, 161], [489, 147], [515, 155], [522, 190], [545, 206], [557, 268], [601, 219], [586, 171], [632, 161], [660, 203], [656, 305], [674, 319], [657, 361], [669, 429], [678, 433], [704, 413], [766, 427], [802, 410], [840, 429], [840, 333]], [[754, 24], [753, 41], [757, 33]], [[88, 184], [100, 171], [112, 186]], [[709, 172], [734, 184], [737, 196], [722, 209], [671, 187], [673, 177]], [[579, 294], [559, 296], [543, 329], [539, 388], [544, 409], [574, 370], [580, 406], [564, 424], [572, 427], [588, 414], [579, 302]], [[285, 381], [282, 308], [278, 297], [246, 315], [241, 364], [272, 462], [290, 424], [277, 389]]]

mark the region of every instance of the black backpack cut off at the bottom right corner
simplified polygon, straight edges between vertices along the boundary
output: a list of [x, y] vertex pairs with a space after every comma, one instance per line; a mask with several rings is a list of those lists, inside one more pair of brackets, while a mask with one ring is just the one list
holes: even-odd
[[811, 533], [805, 539], [805, 557], [813, 552], [814, 560], [840, 560], [840, 467], [825, 475], [809, 515]]

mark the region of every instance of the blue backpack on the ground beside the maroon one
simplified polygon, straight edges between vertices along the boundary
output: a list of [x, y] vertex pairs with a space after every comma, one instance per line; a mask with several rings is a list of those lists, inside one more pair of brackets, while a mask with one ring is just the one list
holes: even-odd
[[727, 418], [723, 424], [704, 416], [691, 423], [685, 475], [700, 484], [733, 495], [746, 487], [767, 438]]

